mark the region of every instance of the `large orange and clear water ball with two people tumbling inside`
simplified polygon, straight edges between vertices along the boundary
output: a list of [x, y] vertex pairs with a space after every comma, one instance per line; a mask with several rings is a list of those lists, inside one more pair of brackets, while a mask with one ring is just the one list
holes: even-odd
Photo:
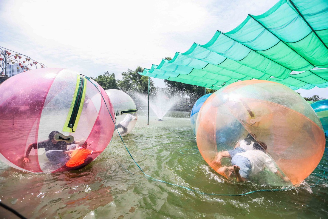
[[296, 185], [319, 164], [325, 137], [318, 116], [295, 91], [247, 80], [212, 94], [196, 121], [204, 160], [238, 182]]

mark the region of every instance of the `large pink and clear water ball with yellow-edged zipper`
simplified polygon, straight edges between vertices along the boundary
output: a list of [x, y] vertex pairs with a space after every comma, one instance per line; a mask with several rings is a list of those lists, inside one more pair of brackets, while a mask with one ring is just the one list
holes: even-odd
[[[9, 78], [0, 86], [0, 160], [34, 173], [84, 167], [111, 141], [114, 123], [106, 105], [113, 115], [104, 89], [67, 69]], [[79, 160], [77, 152], [83, 153]]]

